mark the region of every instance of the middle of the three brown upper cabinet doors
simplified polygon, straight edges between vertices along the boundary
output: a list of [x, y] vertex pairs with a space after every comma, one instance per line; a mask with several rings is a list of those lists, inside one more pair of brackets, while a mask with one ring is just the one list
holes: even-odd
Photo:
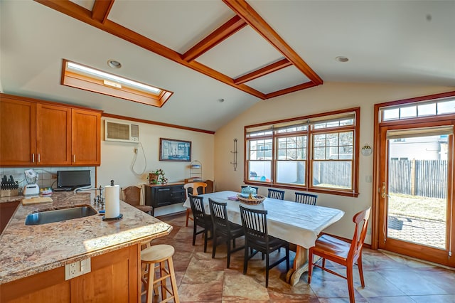
[[36, 161], [39, 165], [71, 164], [71, 108], [36, 105]]

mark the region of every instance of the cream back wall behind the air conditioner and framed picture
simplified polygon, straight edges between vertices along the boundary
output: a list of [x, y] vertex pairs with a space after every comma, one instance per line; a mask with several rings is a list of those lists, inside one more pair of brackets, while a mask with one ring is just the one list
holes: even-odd
[[[159, 161], [160, 138], [191, 141], [191, 160], [201, 162], [203, 179], [214, 179], [213, 134], [107, 118], [114, 122], [139, 124], [140, 144], [112, 142], [104, 140], [104, 119], [102, 119], [101, 166], [97, 168], [97, 186], [108, 185], [112, 179], [120, 187], [146, 184], [149, 183], [147, 179], [149, 172], [156, 169], [164, 170], [169, 183], [181, 182], [188, 178], [191, 162]], [[134, 148], [138, 149], [137, 154], [134, 154]], [[133, 165], [135, 156], [136, 162]], [[181, 204], [165, 206], [157, 208], [155, 216], [185, 209]]]

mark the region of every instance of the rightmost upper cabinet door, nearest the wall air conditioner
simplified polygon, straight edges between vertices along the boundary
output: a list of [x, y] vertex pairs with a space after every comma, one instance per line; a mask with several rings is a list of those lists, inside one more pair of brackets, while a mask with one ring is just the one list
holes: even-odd
[[90, 110], [72, 111], [73, 165], [100, 165], [101, 114]]

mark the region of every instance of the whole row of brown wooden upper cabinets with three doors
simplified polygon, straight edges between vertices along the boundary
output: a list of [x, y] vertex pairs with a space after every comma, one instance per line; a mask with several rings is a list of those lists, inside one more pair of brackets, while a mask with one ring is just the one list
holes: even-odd
[[0, 166], [99, 166], [101, 111], [0, 94]]

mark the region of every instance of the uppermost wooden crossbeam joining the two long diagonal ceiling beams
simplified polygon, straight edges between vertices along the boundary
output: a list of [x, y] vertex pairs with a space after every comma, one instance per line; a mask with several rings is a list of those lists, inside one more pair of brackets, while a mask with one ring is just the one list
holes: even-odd
[[203, 38], [196, 46], [193, 46], [189, 50], [186, 51], [182, 55], [182, 59], [186, 61], [191, 61], [198, 58], [203, 53], [207, 52], [211, 48], [214, 48], [218, 43], [223, 42], [225, 39], [232, 36], [240, 29], [247, 26], [245, 20], [240, 18], [239, 16], [235, 15], [234, 17], [230, 18], [230, 20], [224, 23], [219, 28], [215, 29], [210, 35]]

